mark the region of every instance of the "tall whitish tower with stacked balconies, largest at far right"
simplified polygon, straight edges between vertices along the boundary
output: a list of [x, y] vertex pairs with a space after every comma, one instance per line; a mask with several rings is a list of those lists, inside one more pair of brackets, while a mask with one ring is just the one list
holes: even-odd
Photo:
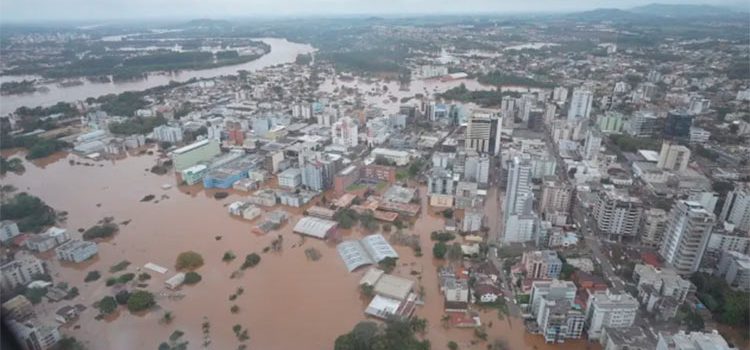
[[716, 217], [698, 202], [680, 200], [669, 212], [659, 254], [679, 274], [698, 270]]

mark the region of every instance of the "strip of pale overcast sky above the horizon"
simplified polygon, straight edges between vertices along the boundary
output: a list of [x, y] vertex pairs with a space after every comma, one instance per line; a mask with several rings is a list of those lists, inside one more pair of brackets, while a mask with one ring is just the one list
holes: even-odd
[[653, 2], [742, 4], [742, 0], [0, 0], [0, 20], [566, 12], [604, 7], [629, 8]]

